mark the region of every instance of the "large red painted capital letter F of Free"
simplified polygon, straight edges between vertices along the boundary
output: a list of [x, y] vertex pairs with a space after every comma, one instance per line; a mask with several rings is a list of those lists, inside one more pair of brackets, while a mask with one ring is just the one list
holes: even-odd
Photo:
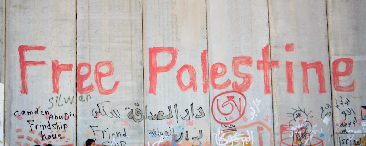
[[20, 93], [28, 94], [28, 86], [27, 86], [27, 66], [37, 66], [37, 65], [46, 65], [44, 61], [25, 61], [25, 52], [29, 50], [39, 50], [43, 51], [46, 47], [44, 46], [25, 46], [20, 45], [18, 47], [19, 52], [19, 67], [20, 67], [20, 79], [22, 80], [22, 85], [20, 89]]

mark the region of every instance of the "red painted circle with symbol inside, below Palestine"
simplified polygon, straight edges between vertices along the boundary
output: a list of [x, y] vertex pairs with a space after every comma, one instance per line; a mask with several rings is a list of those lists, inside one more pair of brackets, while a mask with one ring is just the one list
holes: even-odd
[[[230, 124], [244, 115], [246, 106], [247, 101], [243, 93], [226, 91], [213, 98], [211, 105], [212, 117], [217, 123]], [[217, 116], [222, 118], [217, 118]]]

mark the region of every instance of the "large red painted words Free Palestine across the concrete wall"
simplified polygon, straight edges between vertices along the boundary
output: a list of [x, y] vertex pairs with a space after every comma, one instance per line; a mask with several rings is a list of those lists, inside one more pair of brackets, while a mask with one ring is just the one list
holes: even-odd
[[[294, 51], [294, 44], [286, 44], [286, 51]], [[25, 46], [20, 45], [18, 47], [19, 51], [19, 67], [20, 67], [20, 78], [21, 78], [21, 87], [20, 93], [27, 94], [28, 86], [27, 86], [27, 66], [37, 66], [37, 68], [44, 68], [47, 66], [45, 61], [42, 60], [27, 60], [25, 58], [25, 53], [27, 51], [44, 51], [46, 49], [45, 46]], [[159, 53], [167, 53], [169, 57], [163, 58], [162, 55], [157, 55]], [[157, 89], [157, 78], [159, 74], [164, 73], [176, 73], [176, 84], [178, 85], [181, 91], [188, 91], [193, 89], [194, 92], [197, 92], [197, 75], [196, 69], [202, 69], [202, 92], [207, 93], [209, 85], [212, 86], [213, 89], [223, 90], [227, 89], [229, 86], [232, 87], [233, 91], [245, 92], [249, 89], [252, 81], [253, 74], [241, 72], [239, 70], [239, 66], [246, 66], [248, 68], [256, 68], [257, 70], [263, 71], [263, 82], [264, 82], [264, 93], [270, 94], [270, 71], [275, 69], [283, 69], [285, 68], [285, 74], [287, 78], [287, 87], [286, 91], [289, 94], [294, 94], [294, 71], [293, 71], [293, 62], [286, 61], [285, 64], [280, 64], [279, 60], [270, 60], [269, 57], [269, 45], [266, 45], [262, 48], [262, 58], [257, 61], [253, 61], [251, 56], [246, 55], [238, 55], [232, 58], [231, 69], [232, 73], [235, 77], [240, 78], [240, 81], [232, 81], [232, 79], [228, 78], [225, 82], [219, 84], [216, 83], [216, 79], [224, 78], [224, 75], [227, 73], [228, 67], [227, 65], [217, 62], [212, 64], [210, 68], [208, 68], [208, 59], [207, 59], [207, 49], [203, 50], [201, 53], [201, 58], [197, 61], [201, 61], [201, 66], [193, 66], [189, 64], [182, 65], [178, 70], [173, 70], [173, 67], [177, 64], [177, 58], [179, 57], [179, 49], [173, 47], [151, 47], [148, 51], [148, 61], [149, 61], [149, 93], [156, 95]], [[160, 58], [158, 58], [160, 57]], [[157, 60], [165, 59], [168, 60], [168, 64], [158, 65]], [[191, 59], [190, 59], [191, 60]], [[256, 63], [256, 65], [253, 65]], [[339, 82], [340, 77], [350, 76], [353, 69], [353, 59], [351, 58], [339, 58], [332, 62], [332, 84], [336, 91], [341, 92], [352, 92], [355, 90], [355, 79], [350, 81], [349, 83]], [[59, 64], [57, 59], [51, 61], [52, 64], [52, 93], [59, 94], [60, 87], [60, 74], [61, 72], [71, 72], [72, 64]], [[339, 70], [340, 64], [346, 65], [344, 71]], [[296, 64], [295, 64], [296, 65]], [[324, 65], [320, 61], [315, 62], [305, 62], [300, 61], [299, 65], [302, 67], [302, 91], [309, 93], [308, 88], [308, 70], [315, 69], [316, 75], [314, 78], [318, 79], [319, 84], [319, 94], [326, 93], [325, 89], [325, 77], [324, 77]], [[284, 67], [283, 67], [284, 66]], [[101, 72], [101, 68], [108, 68], [107, 72]], [[87, 72], [82, 72], [82, 68], [86, 68]], [[85, 70], [85, 69], [84, 69]], [[184, 84], [182, 80], [182, 75], [184, 72], [189, 74], [189, 78], [185, 80], [189, 80], [188, 84]], [[94, 84], [91, 83], [89, 85], [83, 85], [83, 82], [91, 77], [92, 67], [89, 62], [79, 62], [76, 67], [76, 92], [80, 94], [88, 94], [94, 91]], [[94, 67], [94, 81], [98, 92], [101, 95], [109, 95], [114, 93], [120, 81], [115, 81], [114, 85], [110, 89], [106, 89], [102, 82], [101, 78], [113, 76], [114, 66], [112, 61], [100, 61], [95, 64]], [[256, 74], [257, 75], [257, 74]], [[317, 76], [317, 77], [316, 77]], [[201, 78], [201, 77], [200, 77]], [[226, 79], [226, 78], [225, 78]], [[224, 79], [224, 80], [225, 80]], [[210, 82], [209, 82], [210, 81]]]

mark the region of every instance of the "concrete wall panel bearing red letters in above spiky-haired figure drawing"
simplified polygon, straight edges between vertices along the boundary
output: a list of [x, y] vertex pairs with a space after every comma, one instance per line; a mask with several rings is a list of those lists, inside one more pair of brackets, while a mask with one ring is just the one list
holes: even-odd
[[325, 1], [268, 8], [275, 145], [333, 145]]

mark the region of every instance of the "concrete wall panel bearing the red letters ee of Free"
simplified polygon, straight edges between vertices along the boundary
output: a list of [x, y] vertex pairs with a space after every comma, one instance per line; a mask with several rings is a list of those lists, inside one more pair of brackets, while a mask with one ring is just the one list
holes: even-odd
[[101, 145], [144, 145], [144, 123], [130, 116], [144, 105], [142, 2], [76, 5], [78, 145], [89, 138]]

